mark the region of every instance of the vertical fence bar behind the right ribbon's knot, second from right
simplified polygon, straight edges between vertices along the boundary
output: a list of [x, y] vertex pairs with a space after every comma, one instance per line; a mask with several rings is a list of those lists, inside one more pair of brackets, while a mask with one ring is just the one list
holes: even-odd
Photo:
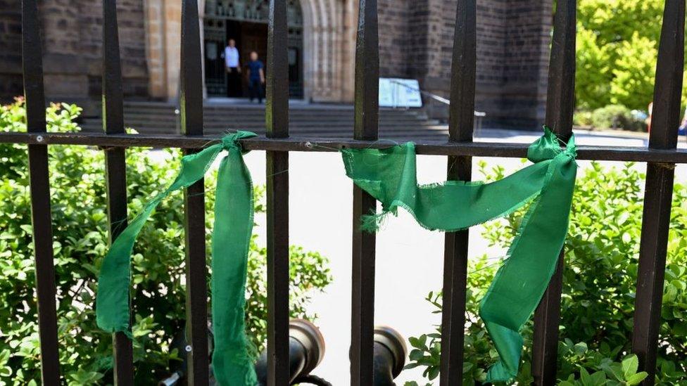
[[[557, 1], [548, 70], [546, 118], [560, 139], [572, 134], [575, 96], [576, 0]], [[563, 281], [563, 251], [556, 271], [534, 313], [532, 375], [535, 385], [553, 385], [556, 380], [560, 293]]]

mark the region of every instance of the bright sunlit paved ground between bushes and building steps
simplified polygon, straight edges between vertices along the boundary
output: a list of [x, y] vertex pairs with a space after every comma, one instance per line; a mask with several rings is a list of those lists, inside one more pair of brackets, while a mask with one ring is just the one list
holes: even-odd
[[[477, 141], [531, 143], [540, 133], [483, 130]], [[578, 143], [598, 146], [645, 146], [645, 139], [636, 134], [603, 134], [577, 132]], [[683, 141], [681, 148], [686, 145]], [[478, 161], [476, 159], [475, 161]], [[503, 165], [508, 172], [522, 167], [516, 159], [486, 159], [492, 165]], [[265, 183], [265, 154], [252, 152], [246, 162], [256, 184]], [[617, 162], [605, 162], [618, 165]], [[477, 164], [477, 162], [475, 162]], [[579, 162], [584, 168], [588, 162]], [[327, 292], [317, 295], [312, 309], [320, 318], [327, 342], [327, 354], [317, 368], [317, 375], [334, 385], [348, 384], [348, 347], [351, 321], [351, 202], [352, 184], [343, 172], [337, 153], [291, 153], [290, 155], [291, 243], [302, 245], [329, 257], [334, 283]], [[643, 165], [636, 167], [643, 169]], [[446, 177], [446, 157], [420, 156], [417, 161], [420, 183], [443, 181]], [[479, 173], [474, 170], [474, 178]], [[678, 181], [687, 180], [685, 166], [676, 169]], [[265, 240], [265, 219], [257, 218], [256, 229]], [[476, 227], [470, 233], [471, 257], [487, 254], [498, 258], [503, 250], [489, 248]], [[440, 290], [443, 269], [443, 234], [430, 232], [415, 224], [406, 212], [391, 218], [377, 235], [377, 275], [375, 292], [375, 322], [396, 328], [405, 337], [429, 333], [441, 317], [431, 314], [424, 301], [430, 290]], [[398, 380], [422, 380], [421, 370], [404, 371]], [[403, 382], [398, 382], [403, 385]]]

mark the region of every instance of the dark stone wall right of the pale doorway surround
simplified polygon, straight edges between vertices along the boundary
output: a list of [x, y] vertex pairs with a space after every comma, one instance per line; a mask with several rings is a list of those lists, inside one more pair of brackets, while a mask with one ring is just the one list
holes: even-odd
[[[419, 79], [422, 89], [448, 97], [456, 1], [410, 1], [405, 28], [393, 18], [382, 20], [389, 13], [384, 2], [379, 3], [380, 34], [383, 25], [393, 23], [391, 28], [407, 37], [380, 39], [382, 76]], [[548, 1], [478, 1], [475, 108], [487, 113], [490, 124], [534, 129], [543, 121], [551, 13]], [[405, 51], [396, 51], [398, 41]], [[405, 67], [398, 65], [399, 58], [407, 60]], [[426, 105], [431, 115], [448, 116], [446, 105], [431, 100]]]

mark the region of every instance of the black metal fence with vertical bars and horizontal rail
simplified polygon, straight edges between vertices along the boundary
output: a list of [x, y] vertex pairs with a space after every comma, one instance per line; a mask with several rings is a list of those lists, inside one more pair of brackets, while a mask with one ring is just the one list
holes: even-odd
[[[473, 143], [475, 89], [475, 11], [477, 0], [458, 0], [446, 141], [420, 141], [417, 153], [448, 156], [448, 179], [469, 180], [473, 156], [524, 157], [527, 146]], [[45, 385], [61, 382], [55, 309], [55, 271], [47, 146], [99, 146], [106, 155], [111, 238], [127, 219], [125, 148], [157, 146], [193, 153], [206, 146], [203, 136], [201, 41], [198, 2], [182, 0], [181, 127], [182, 135], [127, 135], [122, 118], [122, 77], [115, 0], [103, 0], [103, 134], [46, 133], [42, 41], [37, 0], [23, 0], [23, 79], [27, 133], [0, 133], [0, 143], [26, 143], [34, 230], [39, 336]], [[653, 97], [653, 124], [648, 148], [579, 147], [582, 160], [647, 162], [645, 203], [636, 286], [632, 351], [653, 385], [660, 326], [674, 165], [687, 163], [676, 150], [684, 56], [685, 0], [666, 0]], [[572, 132], [575, 75], [576, 1], [557, 0], [548, 75], [546, 124], [567, 139]], [[380, 147], [378, 133], [379, 44], [377, 0], [360, 0], [355, 48], [355, 125], [353, 139], [289, 137], [289, 78], [286, 56], [286, 0], [270, 1], [267, 62], [267, 135], [242, 146], [267, 153], [267, 350], [269, 384], [286, 385], [289, 377], [289, 152], [332, 151], [344, 146]], [[325, 125], [327, 122], [322, 122]], [[322, 146], [317, 146], [322, 145]], [[370, 195], [353, 188], [353, 291], [351, 307], [351, 385], [372, 385], [374, 326], [374, 234], [358, 229], [359, 217], [375, 209]], [[187, 255], [189, 384], [208, 384], [206, 246], [203, 182], [184, 195]], [[286, 225], [286, 226], [285, 226]], [[460, 385], [465, 324], [467, 231], [446, 233], [443, 269], [441, 385]], [[561, 254], [562, 257], [562, 254]], [[535, 314], [533, 369], [536, 385], [555, 383], [563, 259]], [[132, 346], [114, 337], [115, 380], [133, 383]]]

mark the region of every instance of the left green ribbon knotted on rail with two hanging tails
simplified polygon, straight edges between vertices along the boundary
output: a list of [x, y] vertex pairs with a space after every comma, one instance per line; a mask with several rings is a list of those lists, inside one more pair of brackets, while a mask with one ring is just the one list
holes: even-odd
[[238, 131], [221, 143], [182, 158], [175, 181], [146, 203], [112, 243], [101, 267], [96, 295], [98, 326], [110, 333], [130, 332], [131, 254], [136, 238], [158, 204], [170, 193], [203, 178], [222, 150], [212, 239], [213, 370], [220, 385], [255, 385], [256, 373], [245, 333], [246, 268], [253, 233], [253, 182], [239, 140], [256, 134]]

